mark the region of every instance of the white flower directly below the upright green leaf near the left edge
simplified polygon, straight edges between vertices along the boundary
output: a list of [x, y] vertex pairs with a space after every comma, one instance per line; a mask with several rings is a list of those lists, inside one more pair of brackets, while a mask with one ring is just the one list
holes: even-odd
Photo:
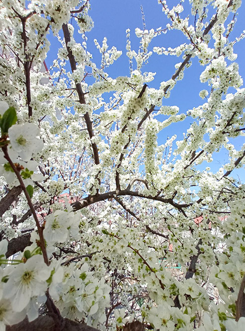
[[13, 125], [8, 130], [12, 148], [24, 161], [29, 161], [33, 153], [37, 153], [43, 148], [43, 141], [36, 138], [37, 134], [38, 127], [33, 123]]

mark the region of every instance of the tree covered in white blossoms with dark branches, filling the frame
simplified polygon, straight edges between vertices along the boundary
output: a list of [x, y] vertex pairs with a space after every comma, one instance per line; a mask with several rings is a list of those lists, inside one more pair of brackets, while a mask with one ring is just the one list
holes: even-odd
[[[121, 51], [95, 41], [98, 66], [87, 50], [89, 0], [2, 1], [0, 330], [244, 330], [241, 0], [158, 3], [169, 23], [136, 29], [137, 51], [127, 30], [130, 74], [113, 79]], [[151, 50], [172, 30], [186, 42]], [[49, 32], [60, 48], [43, 72]], [[159, 88], [143, 71], [152, 51], [182, 59]], [[164, 101], [194, 58], [208, 88], [183, 114]], [[157, 142], [186, 117], [182, 140]], [[202, 170], [224, 150], [224, 166]]]

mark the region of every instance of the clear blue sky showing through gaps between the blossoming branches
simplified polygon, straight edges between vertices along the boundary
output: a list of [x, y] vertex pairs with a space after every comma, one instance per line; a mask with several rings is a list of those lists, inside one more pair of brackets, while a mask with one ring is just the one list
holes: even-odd
[[[179, 1], [171, 0], [171, 5], [177, 4]], [[131, 47], [138, 51], [140, 39], [135, 36], [135, 28], [139, 27], [143, 29], [143, 20], [141, 5], [143, 6], [145, 14], [146, 28], [157, 29], [160, 26], [165, 27], [166, 23], [170, 21], [166, 18], [162, 12], [162, 7], [157, 3], [157, 0], [90, 0], [91, 10], [90, 16], [94, 20], [94, 28], [91, 32], [86, 33], [88, 37], [88, 51], [93, 54], [93, 61], [99, 66], [101, 55], [94, 45], [94, 39], [97, 39], [101, 45], [104, 37], [107, 38], [107, 44], [109, 48], [116, 46], [118, 50], [123, 52], [122, 56], [112, 66], [106, 69], [112, 78], [122, 75], [129, 75], [129, 63], [126, 57], [126, 29], [131, 30]], [[187, 7], [186, 12], [181, 15], [190, 14], [189, 1], [185, 1], [184, 5]], [[209, 12], [212, 15], [213, 11]], [[232, 14], [233, 15], [233, 14]], [[243, 1], [240, 8], [239, 15], [237, 16], [237, 23], [234, 31], [231, 33], [229, 40], [234, 40], [244, 30], [244, 16], [245, 16], [245, 2]], [[183, 16], [182, 16], [183, 17]], [[190, 22], [194, 24], [194, 17], [190, 15]], [[53, 38], [50, 36], [51, 41]], [[81, 35], [76, 35], [76, 41], [82, 42]], [[183, 37], [180, 31], [169, 31], [165, 35], [154, 38], [150, 44], [149, 50], [152, 50], [154, 46], [163, 47], [176, 47], [181, 43], [188, 42]], [[54, 43], [53, 47], [60, 47]], [[245, 39], [234, 47], [235, 53], [238, 54], [237, 63], [240, 67], [240, 74], [245, 77]], [[55, 59], [53, 48], [51, 48], [47, 64], [51, 65], [52, 60]], [[182, 56], [179, 58], [173, 56], [157, 56], [155, 54], [149, 59], [149, 63], [145, 66], [144, 71], [156, 72], [155, 79], [152, 82], [147, 83], [149, 87], [158, 88], [159, 84], [163, 80], [171, 78], [175, 71], [175, 64], [182, 62]], [[199, 75], [204, 69], [203, 66], [199, 66], [197, 59], [192, 59], [192, 66], [185, 70], [184, 79], [177, 82], [175, 88], [171, 91], [171, 97], [164, 99], [163, 102], [166, 105], [177, 105], [180, 108], [180, 113], [186, 113], [189, 109], [202, 104], [203, 101], [199, 97], [199, 91], [201, 89], [210, 88], [206, 84], [201, 84], [199, 81]], [[173, 133], [178, 134], [178, 139], [182, 139], [182, 133], [190, 127], [191, 119], [187, 118], [184, 122], [171, 125], [170, 129], [166, 129], [159, 134], [158, 142], [164, 143], [167, 136], [171, 136]], [[236, 147], [239, 148], [244, 143], [244, 138], [237, 139]], [[227, 152], [216, 155], [212, 163], [214, 171], [225, 162], [227, 159]], [[210, 166], [206, 164], [205, 166]], [[205, 168], [204, 166], [204, 168]], [[235, 174], [234, 174], [235, 175]], [[236, 172], [236, 176], [240, 176], [241, 180], [245, 180], [244, 169], [240, 169]]]

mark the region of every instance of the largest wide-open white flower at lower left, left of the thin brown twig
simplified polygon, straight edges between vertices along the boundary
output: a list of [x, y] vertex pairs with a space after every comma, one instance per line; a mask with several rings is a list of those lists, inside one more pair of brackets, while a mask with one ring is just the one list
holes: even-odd
[[44, 295], [50, 276], [50, 269], [41, 255], [36, 255], [11, 269], [9, 279], [4, 288], [4, 297], [11, 299], [14, 311], [22, 311], [31, 297]]

